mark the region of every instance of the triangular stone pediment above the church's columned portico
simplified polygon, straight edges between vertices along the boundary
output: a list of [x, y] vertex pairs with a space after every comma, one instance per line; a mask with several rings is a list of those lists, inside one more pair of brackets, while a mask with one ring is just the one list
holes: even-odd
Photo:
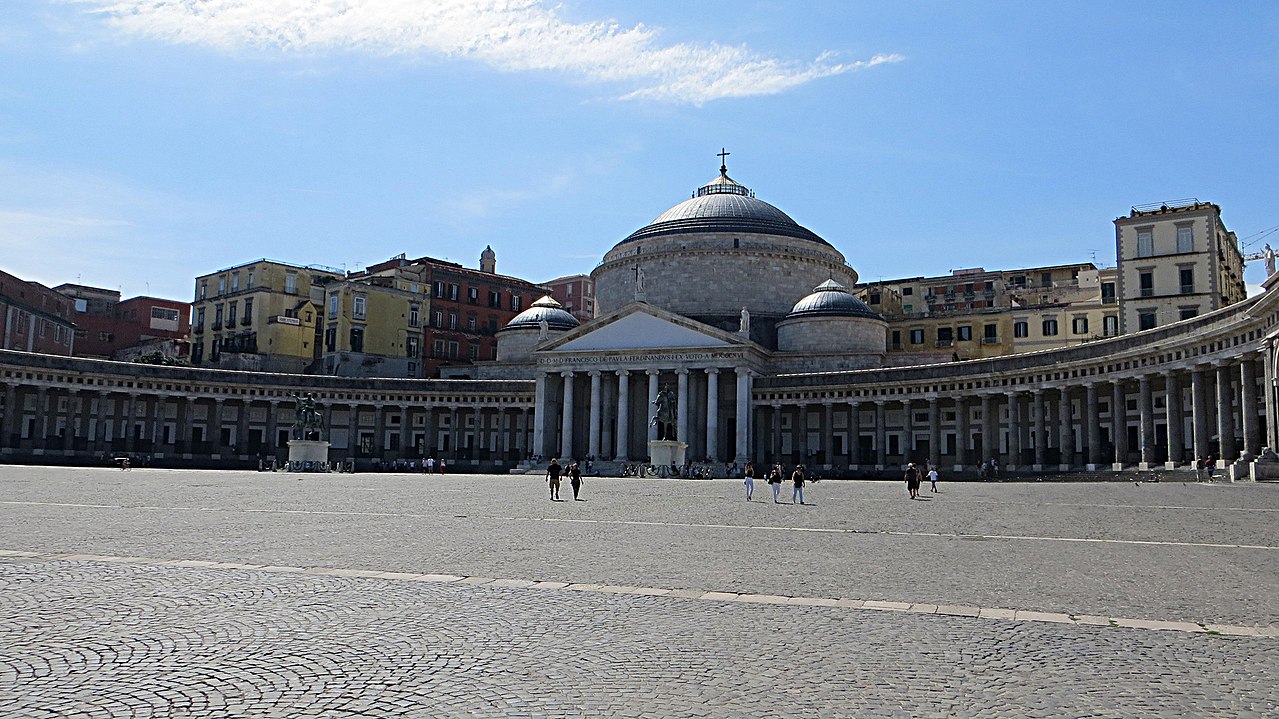
[[600, 317], [545, 347], [550, 352], [609, 352], [619, 349], [665, 349], [741, 347], [742, 339], [687, 317], [645, 306], [631, 306]]

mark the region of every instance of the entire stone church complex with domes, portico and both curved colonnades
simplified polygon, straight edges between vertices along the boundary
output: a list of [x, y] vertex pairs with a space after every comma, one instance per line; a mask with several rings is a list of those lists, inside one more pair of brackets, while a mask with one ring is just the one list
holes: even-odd
[[593, 319], [542, 298], [498, 333], [496, 361], [441, 380], [0, 352], [0, 459], [243, 464], [281, 452], [301, 393], [320, 403], [335, 461], [444, 457], [469, 471], [646, 462], [663, 393], [687, 457], [715, 463], [1228, 467], [1279, 445], [1275, 275], [1259, 297], [1147, 331], [889, 367], [885, 321], [849, 292], [844, 256], [721, 166], [592, 279]]

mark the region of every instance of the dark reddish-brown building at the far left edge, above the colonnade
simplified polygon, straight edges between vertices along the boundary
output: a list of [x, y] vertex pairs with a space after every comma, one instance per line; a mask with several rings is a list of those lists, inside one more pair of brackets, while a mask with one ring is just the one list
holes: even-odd
[[0, 271], [0, 349], [72, 354], [72, 307], [63, 294]]

